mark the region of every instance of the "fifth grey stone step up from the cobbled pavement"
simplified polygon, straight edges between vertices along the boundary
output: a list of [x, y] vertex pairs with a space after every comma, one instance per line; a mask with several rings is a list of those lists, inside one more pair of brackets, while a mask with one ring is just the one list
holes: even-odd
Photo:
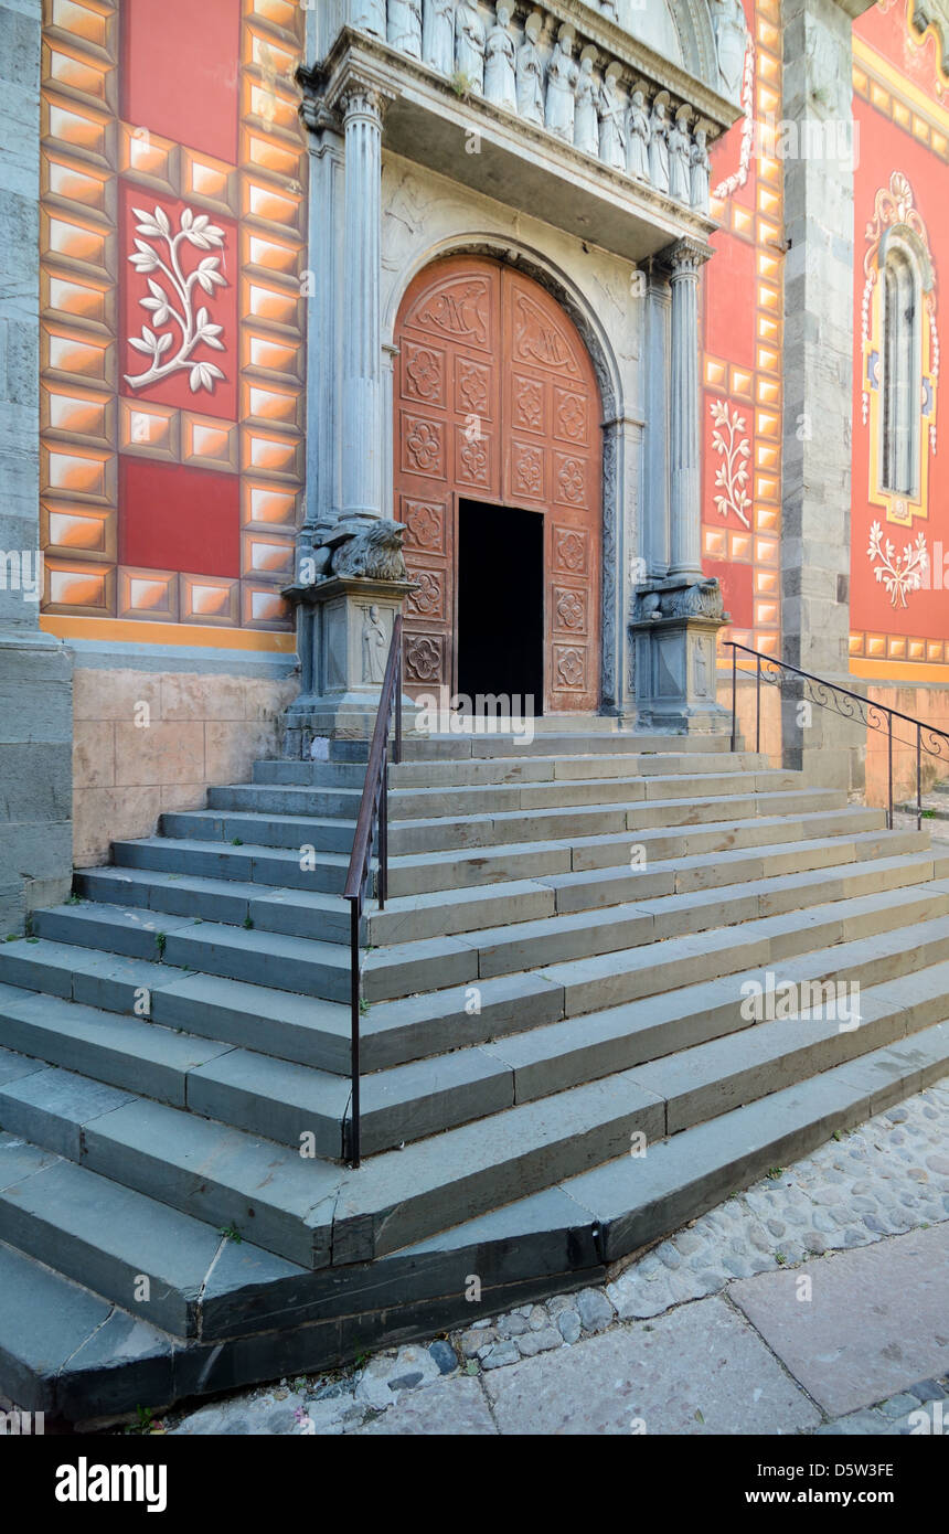
[[[681, 997], [685, 999], [685, 1016], [691, 1016], [688, 996], [678, 989], [684, 973], [699, 977], [695, 996], [701, 1002], [705, 986], [742, 969], [744, 963], [751, 966], [748, 973], [756, 973], [754, 966], [777, 968], [796, 956], [814, 951], [820, 965], [826, 956], [828, 974], [834, 966], [849, 974], [851, 943], [857, 945], [862, 956], [866, 956], [862, 945], [869, 943], [869, 956], [860, 960], [868, 965], [862, 983], [871, 983], [871, 976], [877, 977], [882, 965], [886, 969], [898, 962], [909, 973], [917, 962], [935, 962], [938, 953], [934, 943], [941, 931], [941, 919], [937, 917], [935, 927], [928, 919], [934, 911], [949, 913], [946, 891], [949, 887], [940, 894], [932, 884], [909, 885], [816, 910], [765, 917], [747, 923], [739, 943], [730, 930], [707, 933], [701, 942], [695, 936], [670, 939], [659, 948], [613, 956], [606, 977], [592, 974], [586, 983], [578, 982], [575, 966], [567, 966], [560, 980], [543, 973], [498, 976], [478, 982], [477, 1005], [472, 1005], [471, 985], [380, 1002], [360, 1022], [362, 1068], [369, 1074], [385, 1071], [509, 1034], [523, 1035], [518, 1045], [521, 1054], [541, 1068], [546, 1046], [540, 1042], [532, 1046], [526, 1031], [538, 1029], [543, 1034], [547, 1025], [564, 1020], [567, 979], [572, 983], [572, 1006], [580, 1012], [586, 1008], [589, 1016], [576, 1025], [573, 1014], [564, 1029], [566, 1048], [553, 1054], [570, 1060], [570, 1037], [580, 1026], [581, 1048], [584, 1039], [589, 1043], [593, 1077], [601, 1074], [601, 1052], [606, 1052], [607, 1063], [612, 1058], [613, 1039], [624, 1039], [627, 1032], [635, 1035], [639, 1029], [636, 1017], [641, 1014], [636, 1012], [627, 1029], [624, 1006], [635, 1008], [638, 999], [647, 999], [647, 1019], [658, 1016], [664, 1020], [665, 1012], [656, 992], [672, 991], [675, 996], [668, 999], [668, 1020], [678, 1025], [676, 1008]], [[911, 923], [918, 923], [918, 931], [914, 930], [912, 940], [908, 940], [906, 928]], [[610, 1006], [609, 1000], [598, 1003], [604, 989], [610, 988], [613, 971], [622, 974], [626, 1000], [621, 997], [618, 1006]], [[817, 973], [808, 974], [808, 979], [820, 977]], [[350, 1008], [343, 1002], [296, 996], [216, 974], [186, 973], [167, 963], [150, 963], [49, 939], [20, 939], [0, 945], [0, 982], [120, 1014], [141, 1016], [144, 1005], [146, 1016], [166, 1028], [186, 1029], [336, 1075], [350, 1072]], [[728, 980], [725, 985], [725, 1002], [713, 1005], [713, 992], [707, 1006], [710, 1025], [714, 1020], [722, 1029], [730, 1026], [736, 997], [734, 982]], [[691, 996], [691, 988], [688, 994]], [[636, 1000], [630, 1003], [629, 997]], [[659, 1012], [655, 1011], [656, 1006]], [[589, 1032], [584, 1035], [587, 1025]], [[642, 1026], [644, 1037], [649, 1037], [649, 1022]], [[555, 1039], [557, 1034], [549, 1037]], [[615, 1068], [618, 1066], [609, 1065], [609, 1069]], [[558, 1081], [569, 1085], [566, 1077], [558, 1077]]]

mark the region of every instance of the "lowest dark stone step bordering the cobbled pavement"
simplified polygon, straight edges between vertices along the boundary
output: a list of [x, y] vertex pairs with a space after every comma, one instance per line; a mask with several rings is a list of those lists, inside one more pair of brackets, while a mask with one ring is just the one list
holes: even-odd
[[[944, 1025], [940, 1026], [944, 1031]], [[100, 1424], [132, 1414], [143, 1404], [158, 1411], [186, 1396], [273, 1379], [285, 1368], [287, 1348], [291, 1350], [294, 1371], [313, 1373], [348, 1364], [366, 1348], [471, 1324], [472, 1315], [500, 1315], [515, 1304], [603, 1282], [638, 1250], [673, 1235], [722, 1198], [748, 1187], [774, 1164], [809, 1155], [834, 1134], [855, 1127], [944, 1075], [949, 1071], [949, 1039], [937, 1040], [937, 1029], [926, 1032], [928, 1052], [921, 1062], [900, 1058], [892, 1049], [875, 1051], [860, 1062], [811, 1078], [803, 1088], [773, 1094], [763, 1100], [767, 1114], [760, 1103], [754, 1103], [714, 1120], [714, 1134], [708, 1124], [684, 1131], [675, 1141], [664, 1143], [665, 1150], [664, 1146], [653, 1147], [650, 1181], [642, 1181], [638, 1189], [629, 1186], [632, 1158], [624, 1157], [564, 1180], [547, 1195], [515, 1200], [488, 1218], [452, 1227], [440, 1238], [394, 1249], [374, 1264], [374, 1272], [382, 1275], [397, 1264], [417, 1269], [438, 1250], [445, 1255], [448, 1247], [454, 1278], [446, 1273], [442, 1293], [422, 1304], [389, 1302], [382, 1310], [356, 1312], [350, 1327], [339, 1319], [330, 1321], [325, 1328], [310, 1322], [293, 1332], [284, 1327], [261, 1333], [256, 1348], [248, 1339], [182, 1347], [141, 1318], [101, 1301], [98, 1312], [94, 1309], [89, 1318], [77, 1319], [61, 1348], [63, 1356], [54, 1355], [51, 1361], [44, 1350], [43, 1362], [37, 1365], [23, 1356], [29, 1309], [35, 1315], [37, 1332], [41, 1332], [51, 1312], [66, 1313], [78, 1302], [92, 1304], [95, 1296], [57, 1270], [14, 1252], [25, 1275], [28, 1313], [18, 1313], [12, 1339], [5, 1336], [5, 1325], [11, 1322], [0, 1319], [0, 1390], [25, 1410], [46, 1411], [51, 1422]], [[923, 1043], [923, 1037], [917, 1035], [917, 1045]], [[678, 1161], [673, 1161], [673, 1152]], [[696, 1175], [698, 1167], [701, 1172]], [[541, 1201], [550, 1209], [552, 1193], [560, 1195], [557, 1210], [546, 1223], [538, 1221], [534, 1210]], [[11, 1250], [0, 1246], [0, 1253]], [[477, 1256], [478, 1270], [483, 1270], [495, 1252], [500, 1253], [504, 1282], [486, 1284], [481, 1302], [472, 1305], [465, 1299], [472, 1259]], [[97, 1353], [90, 1342], [103, 1335], [106, 1321], [115, 1322], [123, 1342], [133, 1336], [136, 1345], [115, 1355], [107, 1350]]]

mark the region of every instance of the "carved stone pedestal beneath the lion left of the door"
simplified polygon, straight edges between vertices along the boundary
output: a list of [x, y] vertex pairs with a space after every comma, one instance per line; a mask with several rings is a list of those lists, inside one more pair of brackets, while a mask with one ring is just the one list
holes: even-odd
[[[322, 755], [314, 739], [369, 739], [392, 638], [414, 581], [331, 575], [284, 592], [297, 604], [300, 695], [287, 709], [284, 756]], [[402, 701], [403, 733], [415, 730], [415, 704]]]

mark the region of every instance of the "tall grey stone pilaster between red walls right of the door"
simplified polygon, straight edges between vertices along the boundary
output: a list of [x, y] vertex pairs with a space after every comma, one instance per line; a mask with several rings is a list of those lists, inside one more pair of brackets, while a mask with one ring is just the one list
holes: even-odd
[[[849, 121], [852, 18], [869, 0], [783, 0], [782, 115]], [[832, 135], [837, 141], [837, 135]], [[849, 156], [785, 160], [782, 660], [860, 690], [849, 676], [849, 508], [854, 170]], [[803, 723], [802, 723], [803, 719]], [[828, 787], [860, 787], [865, 733], [825, 709], [782, 707], [785, 765]]]

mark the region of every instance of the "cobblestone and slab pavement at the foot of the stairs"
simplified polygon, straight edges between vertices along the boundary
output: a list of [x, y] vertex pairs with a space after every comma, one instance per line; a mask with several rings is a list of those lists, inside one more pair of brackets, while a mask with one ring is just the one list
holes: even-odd
[[[940, 1355], [935, 1378], [900, 1378], [900, 1390], [886, 1393], [874, 1384], [878, 1368], [874, 1376], [875, 1365], [869, 1367], [866, 1382], [857, 1385], [865, 1391], [860, 1408], [836, 1414], [820, 1405], [819, 1388], [816, 1399], [800, 1379], [790, 1378], [794, 1365], [785, 1365], [780, 1344], [768, 1345], [770, 1328], [760, 1324], [756, 1328], [739, 1309], [747, 1304], [745, 1290], [754, 1287], [742, 1281], [754, 1275], [797, 1270], [800, 1278], [806, 1272], [817, 1285], [822, 1273], [842, 1276], [842, 1270], [826, 1267], [843, 1261], [834, 1253], [874, 1244], [882, 1244], [874, 1279], [882, 1293], [905, 1287], [903, 1278], [895, 1285], [900, 1253], [906, 1255], [906, 1241], [912, 1246], [924, 1239], [906, 1233], [949, 1221], [947, 1131], [949, 1077], [857, 1129], [839, 1132], [794, 1166], [774, 1167], [747, 1192], [633, 1261], [604, 1287], [520, 1305], [489, 1321], [478, 1319], [477, 1327], [382, 1351], [346, 1370], [285, 1379], [276, 1387], [218, 1399], [187, 1414], [169, 1416], [164, 1428], [176, 1434], [630, 1431], [629, 1402], [609, 1419], [601, 1411], [584, 1413], [584, 1370], [589, 1364], [586, 1373], [595, 1378], [601, 1356], [606, 1361], [618, 1356], [615, 1348], [619, 1353], [639, 1348], [642, 1356], [630, 1353], [632, 1373], [636, 1379], [653, 1379], [652, 1396], [644, 1385], [641, 1394], [649, 1399], [633, 1402], [644, 1413], [645, 1431], [918, 1433], [928, 1431], [923, 1411], [929, 1414], [931, 1431], [949, 1433], [949, 1339], [940, 1338], [947, 1351], [944, 1359]], [[911, 1256], [915, 1255], [914, 1249]], [[888, 1284], [891, 1261], [894, 1281]], [[944, 1255], [940, 1262], [946, 1315]], [[848, 1299], [845, 1284], [843, 1330]], [[859, 1365], [860, 1348], [866, 1345], [860, 1325], [860, 1316], [851, 1318]], [[675, 1373], [673, 1361], [684, 1348], [701, 1353], [702, 1336], [716, 1328], [722, 1332], [722, 1355], [728, 1356], [728, 1379], [707, 1381], [705, 1408], [696, 1407], [682, 1419], [685, 1387], [675, 1404], [662, 1404], [659, 1397], [668, 1388], [670, 1370]], [[604, 1335], [609, 1335], [606, 1348], [599, 1345]], [[662, 1362], [667, 1341], [673, 1351]], [[900, 1342], [891, 1341], [883, 1355], [898, 1358]], [[926, 1345], [932, 1348], [923, 1342], [917, 1356], [924, 1356], [929, 1367]], [[742, 1348], [750, 1350], [744, 1362]], [[851, 1347], [851, 1361], [852, 1351]], [[911, 1368], [911, 1353], [903, 1370]], [[820, 1361], [826, 1361], [825, 1355]], [[894, 1367], [898, 1376], [900, 1365]], [[701, 1356], [693, 1368], [701, 1376]], [[748, 1397], [763, 1399], [750, 1425], [744, 1425], [737, 1408], [742, 1391], [736, 1390], [736, 1381], [742, 1371]], [[524, 1397], [524, 1388], [530, 1397]], [[576, 1413], [567, 1410], [557, 1424], [544, 1425], [537, 1410], [540, 1394], [560, 1399], [573, 1394]], [[832, 1399], [832, 1391], [825, 1399]], [[624, 1425], [618, 1428], [613, 1422], [619, 1417]], [[716, 1427], [710, 1425], [713, 1417]]]

